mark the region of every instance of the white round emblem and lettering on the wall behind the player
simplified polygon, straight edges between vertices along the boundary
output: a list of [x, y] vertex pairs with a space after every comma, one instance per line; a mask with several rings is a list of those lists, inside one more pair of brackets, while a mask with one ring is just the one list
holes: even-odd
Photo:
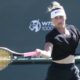
[[42, 31], [48, 31], [52, 30], [53, 26], [51, 25], [50, 21], [40, 21], [38, 20], [32, 20], [29, 24], [29, 29], [34, 32]]

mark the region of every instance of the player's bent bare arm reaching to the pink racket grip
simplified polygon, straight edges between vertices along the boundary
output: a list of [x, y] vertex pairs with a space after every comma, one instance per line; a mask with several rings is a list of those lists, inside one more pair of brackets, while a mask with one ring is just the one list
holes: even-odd
[[53, 50], [53, 44], [50, 42], [45, 43], [44, 50], [36, 49], [40, 53], [41, 57], [50, 58]]

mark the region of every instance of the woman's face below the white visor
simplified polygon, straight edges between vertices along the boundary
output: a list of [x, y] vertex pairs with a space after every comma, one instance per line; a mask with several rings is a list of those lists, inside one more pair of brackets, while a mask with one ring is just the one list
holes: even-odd
[[57, 16], [52, 19], [52, 23], [55, 25], [56, 28], [65, 27], [65, 19], [63, 16]]

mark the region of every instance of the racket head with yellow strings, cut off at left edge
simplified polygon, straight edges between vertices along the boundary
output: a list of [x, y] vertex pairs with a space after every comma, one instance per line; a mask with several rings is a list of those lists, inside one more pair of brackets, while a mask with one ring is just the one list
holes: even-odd
[[7, 49], [0, 47], [0, 71], [5, 69], [13, 59], [13, 55]]

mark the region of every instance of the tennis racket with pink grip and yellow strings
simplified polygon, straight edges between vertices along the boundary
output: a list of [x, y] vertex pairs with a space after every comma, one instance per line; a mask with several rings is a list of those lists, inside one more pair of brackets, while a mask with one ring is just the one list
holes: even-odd
[[6, 47], [0, 47], [0, 70], [5, 69], [10, 63], [16, 60], [19, 56], [21, 57], [34, 57], [38, 56], [36, 51], [18, 53], [16, 51], [12, 51]]

